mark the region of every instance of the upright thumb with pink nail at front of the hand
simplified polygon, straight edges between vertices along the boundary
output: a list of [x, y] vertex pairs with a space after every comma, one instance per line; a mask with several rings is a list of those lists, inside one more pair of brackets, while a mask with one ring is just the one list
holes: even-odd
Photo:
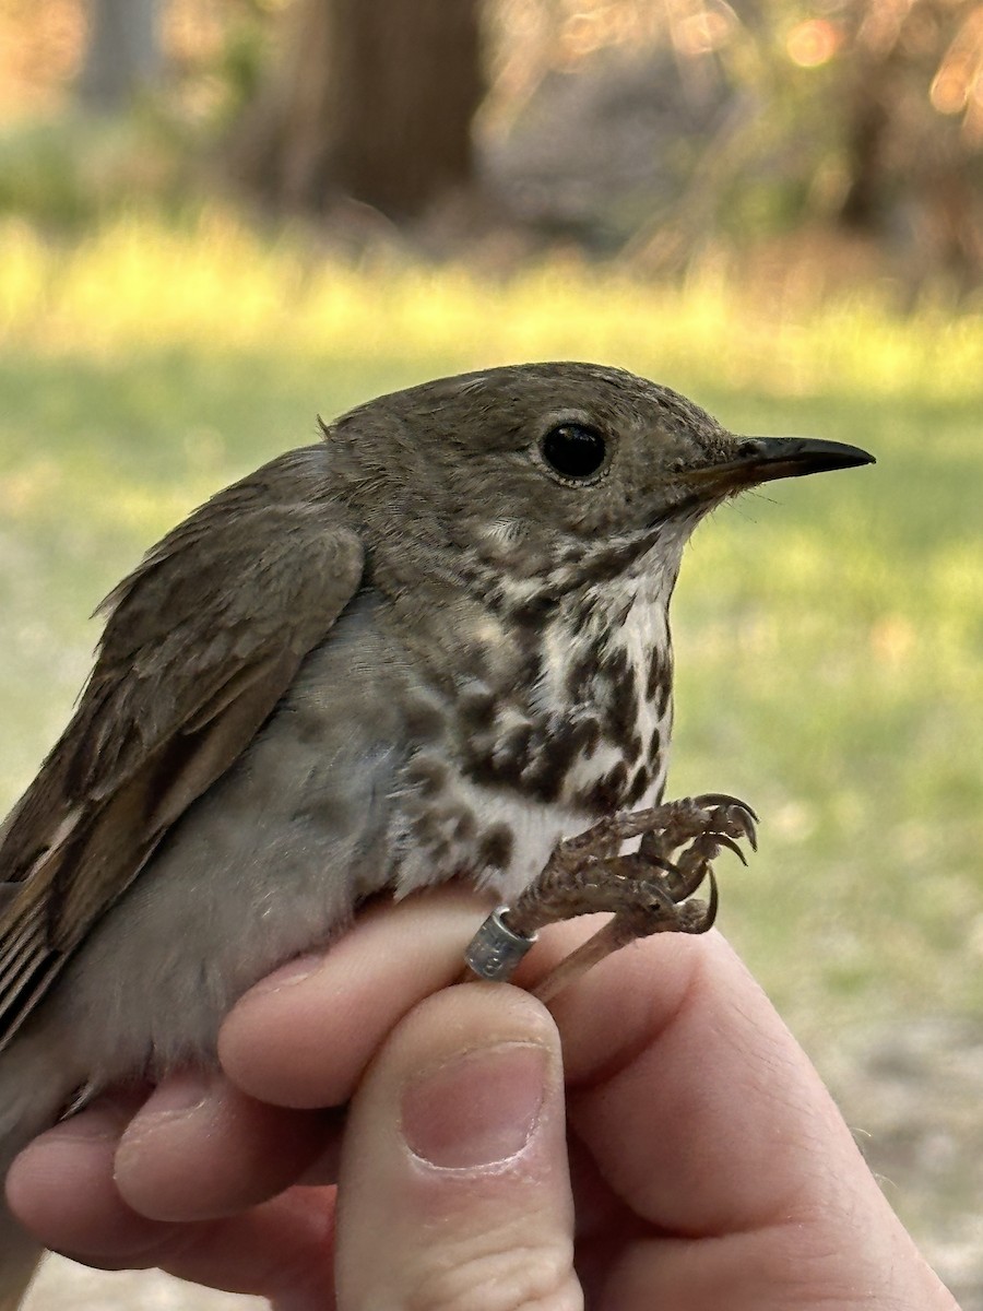
[[502, 986], [421, 1003], [354, 1099], [339, 1188], [343, 1311], [581, 1306], [548, 1012]]

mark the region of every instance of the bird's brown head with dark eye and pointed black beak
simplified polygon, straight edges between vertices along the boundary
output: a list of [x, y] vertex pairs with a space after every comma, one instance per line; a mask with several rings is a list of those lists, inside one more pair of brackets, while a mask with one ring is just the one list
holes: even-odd
[[699, 519], [772, 479], [868, 464], [853, 446], [735, 437], [667, 387], [619, 368], [519, 364], [426, 383], [329, 430], [354, 456], [350, 485], [391, 535], [477, 553], [540, 578], [659, 545], [678, 564]]

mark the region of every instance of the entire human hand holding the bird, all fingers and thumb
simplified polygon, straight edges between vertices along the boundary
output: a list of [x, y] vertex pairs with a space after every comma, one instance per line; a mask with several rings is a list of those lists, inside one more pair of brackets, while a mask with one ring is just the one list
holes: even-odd
[[448, 986], [480, 915], [455, 889], [372, 909], [246, 994], [222, 1075], [37, 1139], [16, 1213], [277, 1311], [955, 1308], [718, 933], [640, 943], [547, 1011]]

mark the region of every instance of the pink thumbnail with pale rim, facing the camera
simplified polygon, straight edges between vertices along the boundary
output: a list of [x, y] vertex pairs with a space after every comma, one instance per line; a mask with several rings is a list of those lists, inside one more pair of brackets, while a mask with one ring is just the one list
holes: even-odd
[[402, 1134], [439, 1169], [506, 1162], [532, 1138], [547, 1082], [547, 1053], [530, 1042], [467, 1051], [402, 1091]]

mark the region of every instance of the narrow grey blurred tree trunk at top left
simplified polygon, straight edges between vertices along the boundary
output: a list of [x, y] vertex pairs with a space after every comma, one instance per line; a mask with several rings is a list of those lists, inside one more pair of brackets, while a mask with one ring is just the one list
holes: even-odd
[[79, 100], [92, 109], [126, 109], [160, 73], [159, 0], [89, 0]]

